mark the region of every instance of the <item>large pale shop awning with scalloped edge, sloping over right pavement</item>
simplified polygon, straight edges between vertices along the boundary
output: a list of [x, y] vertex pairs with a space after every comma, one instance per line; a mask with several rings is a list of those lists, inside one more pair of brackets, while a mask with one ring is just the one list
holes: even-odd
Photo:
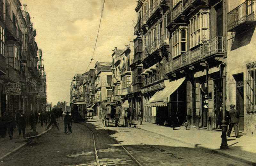
[[165, 88], [161, 91], [156, 92], [151, 99], [145, 104], [148, 107], [163, 107], [167, 106], [168, 98], [175, 92], [180, 85], [184, 82], [186, 77], [181, 79], [176, 79], [169, 82], [169, 80], [164, 81]]

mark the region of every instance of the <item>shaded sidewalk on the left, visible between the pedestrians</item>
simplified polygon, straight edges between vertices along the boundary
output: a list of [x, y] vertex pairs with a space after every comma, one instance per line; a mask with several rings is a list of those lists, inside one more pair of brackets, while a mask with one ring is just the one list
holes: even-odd
[[[63, 123], [62, 120], [60, 120], [59, 123], [61, 125]], [[46, 130], [45, 130], [46, 127], [47, 126], [45, 125], [43, 125], [42, 127], [40, 123], [37, 123], [36, 131], [39, 133], [39, 135], [42, 135], [46, 133]], [[33, 131], [30, 129], [31, 129], [30, 125], [27, 125], [26, 133]], [[49, 128], [49, 130], [51, 129], [52, 129], [52, 126]], [[6, 137], [0, 138], [0, 162], [4, 157], [10, 155], [11, 153], [17, 151], [21, 147], [24, 147], [25, 145], [27, 145], [27, 139], [23, 138], [22, 133], [19, 136], [19, 130], [17, 127], [13, 130], [13, 140], [10, 140], [8, 132], [6, 132]]]

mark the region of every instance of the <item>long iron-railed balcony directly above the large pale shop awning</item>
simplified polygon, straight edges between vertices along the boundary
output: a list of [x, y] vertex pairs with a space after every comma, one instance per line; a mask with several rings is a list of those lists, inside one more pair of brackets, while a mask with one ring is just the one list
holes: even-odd
[[211, 57], [220, 56], [223, 57], [226, 52], [225, 37], [216, 36], [208, 41], [205, 41], [202, 45], [194, 50], [185, 52], [180, 57], [169, 61], [165, 67], [165, 73], [171, 73], [182, 68], [196, 64], [201, 61], [205, 61]]

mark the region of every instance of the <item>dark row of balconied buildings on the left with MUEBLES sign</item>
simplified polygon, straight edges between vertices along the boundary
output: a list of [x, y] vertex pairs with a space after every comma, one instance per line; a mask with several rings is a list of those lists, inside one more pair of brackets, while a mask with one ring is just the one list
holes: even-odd
[[[1, 114], [23, 110], [28, 116], [35, 111], [45, 111], [46, 74], [39, 75], [37, 62], [36, 30], [30, 22], [27, 5], [19, 0], [6, 0], [0, 3], [0, 102]], [[39, 96], [44, 84], [44, 96]], [[38, 104], [39, 99], [43, 101]]]

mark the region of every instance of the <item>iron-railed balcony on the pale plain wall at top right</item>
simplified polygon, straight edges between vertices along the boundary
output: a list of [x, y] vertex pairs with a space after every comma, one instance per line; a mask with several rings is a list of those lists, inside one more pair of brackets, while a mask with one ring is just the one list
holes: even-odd
[[228, 12], [228, 31], [236, 32], [256, 25], [256, 0], [246, 0]]

